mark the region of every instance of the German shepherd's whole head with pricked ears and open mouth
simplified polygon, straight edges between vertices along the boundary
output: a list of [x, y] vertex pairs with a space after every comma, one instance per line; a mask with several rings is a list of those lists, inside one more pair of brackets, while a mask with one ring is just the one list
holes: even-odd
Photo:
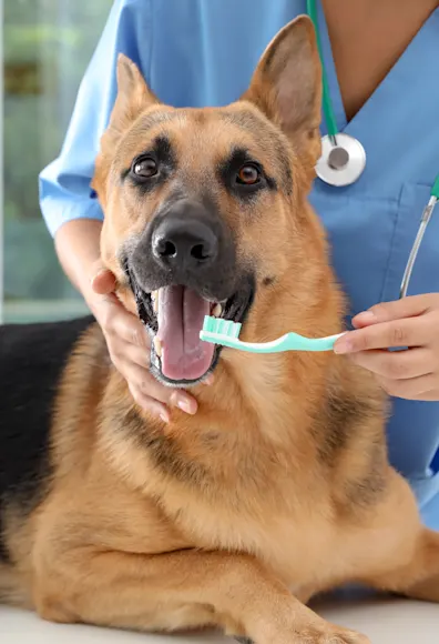
[[187, 385], [220, 354], [200, 340], [204, 316], [246, 321], [244, 334], [253, 320], [257, 340], [256, 321], [306, 264], [305, 204], [320, 153], [314, 30], [305, 17], [286, 26], [226, 108], [161, 104], [125, 57], [118, 84], [93, 180], [102, 256], [132, 309], [135, 295], [153, 373]]

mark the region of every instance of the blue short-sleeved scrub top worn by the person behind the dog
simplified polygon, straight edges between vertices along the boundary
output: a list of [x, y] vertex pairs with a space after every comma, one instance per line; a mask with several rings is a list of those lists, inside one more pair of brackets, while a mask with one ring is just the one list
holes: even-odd
[[[305, 12], [305, 4], [116, 0], [83, 78], [62, 151], [40, 174], [41, 208], [51, 233], [72, 219], [103, 217], [90, 180], [115, 99], [119, 52], [137, 63], [163, 102], [223, 105], [243, 93], [267, 43]], [[439, 172], [439, 9], [349, 123], [321, 8], [319, 32], [338, 128], [359, 139], [367, 153], [357, 183], [331, 188], [317, 179], [310, 195], [355, 314], [398, 298]], [[422, 292], [439, 292], [439, 214], [422, 243], [409, 294]], [[439, 402], [395, 400], [387, 430], [391, 463], [410, 481], [426, 523], [439, 529]]]

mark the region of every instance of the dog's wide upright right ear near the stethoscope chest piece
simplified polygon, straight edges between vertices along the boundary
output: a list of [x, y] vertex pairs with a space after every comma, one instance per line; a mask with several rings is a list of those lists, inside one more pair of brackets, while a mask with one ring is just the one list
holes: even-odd
[[321, 66], [313, 22], [300, 16], [266, 48], [242, 100], [255, 103], [315, 163], [320, 155]]

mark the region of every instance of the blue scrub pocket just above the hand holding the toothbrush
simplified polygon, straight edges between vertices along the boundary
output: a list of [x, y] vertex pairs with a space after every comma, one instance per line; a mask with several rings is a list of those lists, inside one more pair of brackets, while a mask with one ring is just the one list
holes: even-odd
[[[348, 295], [351, 314], [399, 298], [430, 190], [430, 185], [406, 182], [394, 198], [369, 198], [315, 183], [310, 203], [326, 228], [331, 263]], [[439, 207], [410, 281], [409, 294], [427, 292], [439, 292]]]

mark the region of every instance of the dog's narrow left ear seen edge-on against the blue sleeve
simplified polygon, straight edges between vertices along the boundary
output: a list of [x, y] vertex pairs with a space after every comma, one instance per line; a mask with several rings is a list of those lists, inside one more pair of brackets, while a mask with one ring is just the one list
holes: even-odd
[[144, 110], [151, 105], [160, 104], [137, 66], [123, 53], [118, 57], [116, 78], [118, 95], [106, 130], [101, 137], [101, 148], [91, 182], [91, 187], [98, 192], [101, 202], [104, 200], [103, 184], [121, 135]]

